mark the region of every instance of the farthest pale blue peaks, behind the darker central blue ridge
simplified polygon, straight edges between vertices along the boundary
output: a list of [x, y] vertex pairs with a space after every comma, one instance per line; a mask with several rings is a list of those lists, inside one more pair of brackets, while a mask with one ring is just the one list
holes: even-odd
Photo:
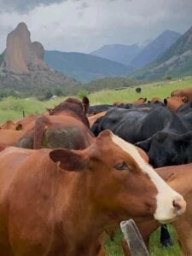
[[174, 44], [181, 34], [166, 30], [152, 41], [145, 44], [108, 44], [102, 48], [92, 51], [91, 55], [97, 55], [112, 61], [129, 65], [134, 68], [144, 67], [161, 55], [166, 49]]

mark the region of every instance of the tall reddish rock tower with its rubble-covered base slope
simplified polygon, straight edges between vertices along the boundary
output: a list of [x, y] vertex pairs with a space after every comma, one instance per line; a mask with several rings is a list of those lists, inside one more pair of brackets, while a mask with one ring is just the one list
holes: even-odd
[[0, 88], [28, 90], [54, 85], [65, 88], [77, 84], [75, 80], [47, 67], [43, 45], [32, 43], [24, 22], [9, 33], [6, 49], [0, 55]]

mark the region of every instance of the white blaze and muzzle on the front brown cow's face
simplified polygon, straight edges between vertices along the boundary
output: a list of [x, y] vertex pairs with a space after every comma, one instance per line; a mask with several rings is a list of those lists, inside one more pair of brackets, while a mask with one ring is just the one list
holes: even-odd
[[[183, 196], [179, 195], [175, 190], [168, 186], [165, 181], [154, 171], [153, 167], [143, 160], [141, 154], [139, 154], [137, 148], [131, 143], [125, 142], [120, 137], [111, 133], [113, 143], [117, 144], [123, 151], [130, 154], [131, 157], [137, 162], [141, 171], [148, 174], [151, 181], [154, 183], [158, 193], [156, 195], [156, 211], [154, 212], [154, 218], [159, 221], [166, 221], [176, 218], [177, 215], [185, 211], [186, 203], [183, 200]], [[179, 211], [175, 211], [173, 207], [173, 201], [180, 201], [182, 208]]]

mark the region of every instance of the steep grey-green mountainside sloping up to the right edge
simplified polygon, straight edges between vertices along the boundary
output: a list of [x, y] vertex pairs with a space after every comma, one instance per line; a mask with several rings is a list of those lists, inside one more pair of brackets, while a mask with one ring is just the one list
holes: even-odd
[[138, 79], [192, 75], [192, 26], [155, 61], [133, 73]]

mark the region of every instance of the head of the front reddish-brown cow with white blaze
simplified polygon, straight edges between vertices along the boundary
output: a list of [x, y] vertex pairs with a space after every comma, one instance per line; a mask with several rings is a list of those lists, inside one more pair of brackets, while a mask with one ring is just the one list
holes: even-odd
[[185, 201], [154, 172], [140, 150], [102, 131], [83, 151], [54, 149], [49, 157], [63, 172], [79, 172], [98, 214], [105, 212], [118, 221], [152, 214], [160, 222], [172, 220], [185, 211]]

